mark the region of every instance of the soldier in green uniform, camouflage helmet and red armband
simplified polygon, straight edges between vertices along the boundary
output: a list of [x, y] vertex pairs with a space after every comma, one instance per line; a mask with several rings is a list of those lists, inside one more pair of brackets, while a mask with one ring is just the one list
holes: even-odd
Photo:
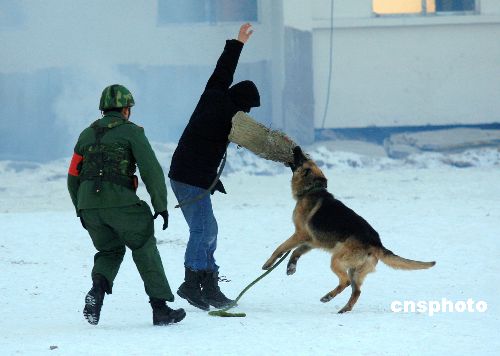
[[[125, 255], [125, 247], [139, 270], [153, 309], [153, 324], [182, 320], [183, 309], [173, 310], [170, 290], [154, 237], [153, 220], [162, 216], [168, 226], [167, 189], [163, 170], [144, 135], [129, 121], [134, 99], [125, 87], [106, 87], [99, 109], [103, 117], [83, 130], [68, 172], [68, 190], [97, 249], [92, 269], [92, 289], [85, 297], [83, 314], [90, 324], [99, 322], [105, 293]], [[136, 195], [136, 165], [151, 197], [155, 214]]]

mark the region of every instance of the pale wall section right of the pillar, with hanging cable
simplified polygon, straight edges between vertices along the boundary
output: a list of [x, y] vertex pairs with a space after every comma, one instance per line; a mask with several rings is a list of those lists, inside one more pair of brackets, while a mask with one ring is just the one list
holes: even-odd
[[[312, 2], [315, 127], [323, 127], [329, 0]], [[500, 121], [500, 1], [478, 14], [375, 17], [370, 0], [335, 1], [325, 128]]]

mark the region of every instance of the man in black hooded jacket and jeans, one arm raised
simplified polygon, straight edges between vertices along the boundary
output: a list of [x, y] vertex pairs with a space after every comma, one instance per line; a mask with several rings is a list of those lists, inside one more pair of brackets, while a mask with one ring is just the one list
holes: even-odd
[[233, 301], [218, 286], [219, 266], [215, 263], [217, 221], [210, 193], [226, 193], [217, 179], [231, 130], [231, 119], [238, 111], [249, 112], [260, 106], [255, 84], [245, 80], [230, 87], [243, 45], [252, 35], [251, 25], [240, 27], [238, 39], [227, 40], [214, 72], [172, 157], [168, 176], [174, 194], [189, 225], [189, 241], [184, 256], [185, 279], [177, 294], [190, 304], [209, 310]]

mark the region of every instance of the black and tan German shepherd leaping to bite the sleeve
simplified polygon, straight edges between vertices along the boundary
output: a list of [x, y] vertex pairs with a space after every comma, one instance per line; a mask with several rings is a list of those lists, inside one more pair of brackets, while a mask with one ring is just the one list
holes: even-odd
[[294, 249], [287, 266], [287, 274], [295, 273], [300, 256], [313, 248], [332, 254], [333, 273], [339, 285], [321, 298], [329, 302], [349, 285], [351, 297], [339, 313], [352, 310], [361, 294], [366, 275], [375, 270], [378, 260], [404, 270], [426, 269], [436, 262], [408, 260], [386, 249], [380, 237], [368, 222], [335, 199], [327, 188], [327, 179], [313, 160], [306, 157], [299, 146], [293, 150], [294, 162], [292, 194], [297, 204], [293, 211], [294, 234], [273, 252], [262, 266], [269, 269], [284, 253]]

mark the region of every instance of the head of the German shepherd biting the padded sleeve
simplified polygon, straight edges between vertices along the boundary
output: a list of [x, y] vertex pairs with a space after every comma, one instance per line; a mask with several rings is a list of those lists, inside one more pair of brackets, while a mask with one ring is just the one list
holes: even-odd
[[293, 163], [289, 163], [293, 172], [292, 194], [295, 198], [315, 188], [327, 187], [327, 179], [316, 163], [307, 157], [300, 146], [293, 149]]

